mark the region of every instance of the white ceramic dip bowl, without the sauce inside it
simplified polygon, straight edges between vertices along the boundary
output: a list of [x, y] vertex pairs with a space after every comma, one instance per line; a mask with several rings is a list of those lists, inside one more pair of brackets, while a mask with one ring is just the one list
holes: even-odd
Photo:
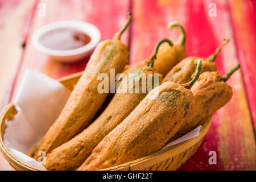
[[[49, 31], [59, 28], [74, 28], [89, 35], [91, 40], [85, 46], [71, 50], [49, 49], [40, 44], [39, 40], [41, 36]], [[38, 49], [38, 51], [45, 53], [53, 60], [62, 62], [73, 62], [87, 56], [94, 49], [94, 47], [96, 47], [100, 39], [101, 33], [96, 26], [93, 26], [93, 24], [80, 21], [60, 21], [49, 23], [35, 31], [32, 35], [32, 44], [35, 46], [36, 49]]]

